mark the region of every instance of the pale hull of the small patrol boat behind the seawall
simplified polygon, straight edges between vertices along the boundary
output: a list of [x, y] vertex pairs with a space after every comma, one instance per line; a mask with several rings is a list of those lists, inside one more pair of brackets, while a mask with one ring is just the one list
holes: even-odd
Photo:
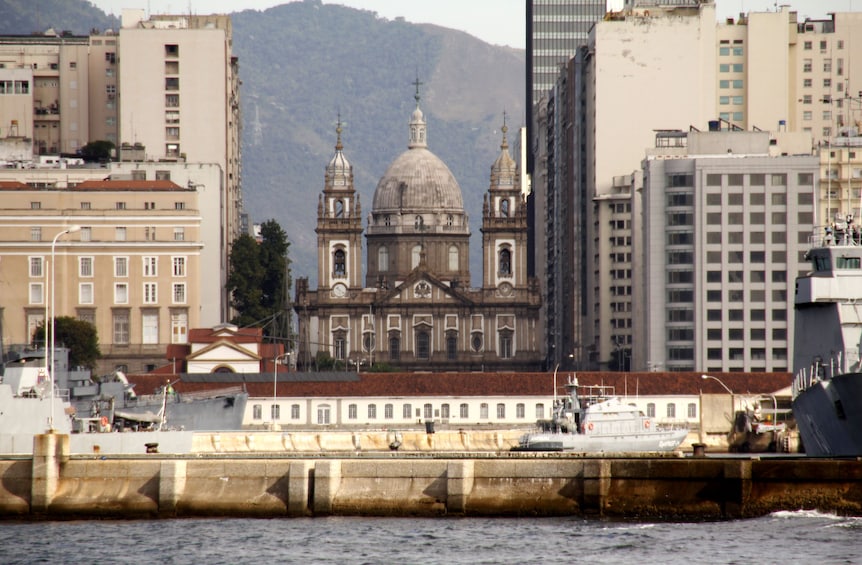
[[636, 435], [536, 433], [525, 436], [517, 451], [639, 453], [674, 451], [688, 430], [661, 430]]

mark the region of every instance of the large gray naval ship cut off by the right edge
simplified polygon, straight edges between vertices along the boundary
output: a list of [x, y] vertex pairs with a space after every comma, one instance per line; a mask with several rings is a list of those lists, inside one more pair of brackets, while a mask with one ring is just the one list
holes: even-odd
[[793, 415], [805, 453], [862, 455], [862, 238], [853, 217], [813, 238], [796, 279]]

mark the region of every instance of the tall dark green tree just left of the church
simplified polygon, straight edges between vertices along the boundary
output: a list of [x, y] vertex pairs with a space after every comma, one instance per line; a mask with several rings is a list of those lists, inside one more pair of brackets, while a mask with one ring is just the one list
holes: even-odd
[[233, 242], [227, 290], [238, 326], [265, 327], [269, 336], [289, 338], [290, 243], [275, 220], [261, 224], [261, 242], [248, 234]]

